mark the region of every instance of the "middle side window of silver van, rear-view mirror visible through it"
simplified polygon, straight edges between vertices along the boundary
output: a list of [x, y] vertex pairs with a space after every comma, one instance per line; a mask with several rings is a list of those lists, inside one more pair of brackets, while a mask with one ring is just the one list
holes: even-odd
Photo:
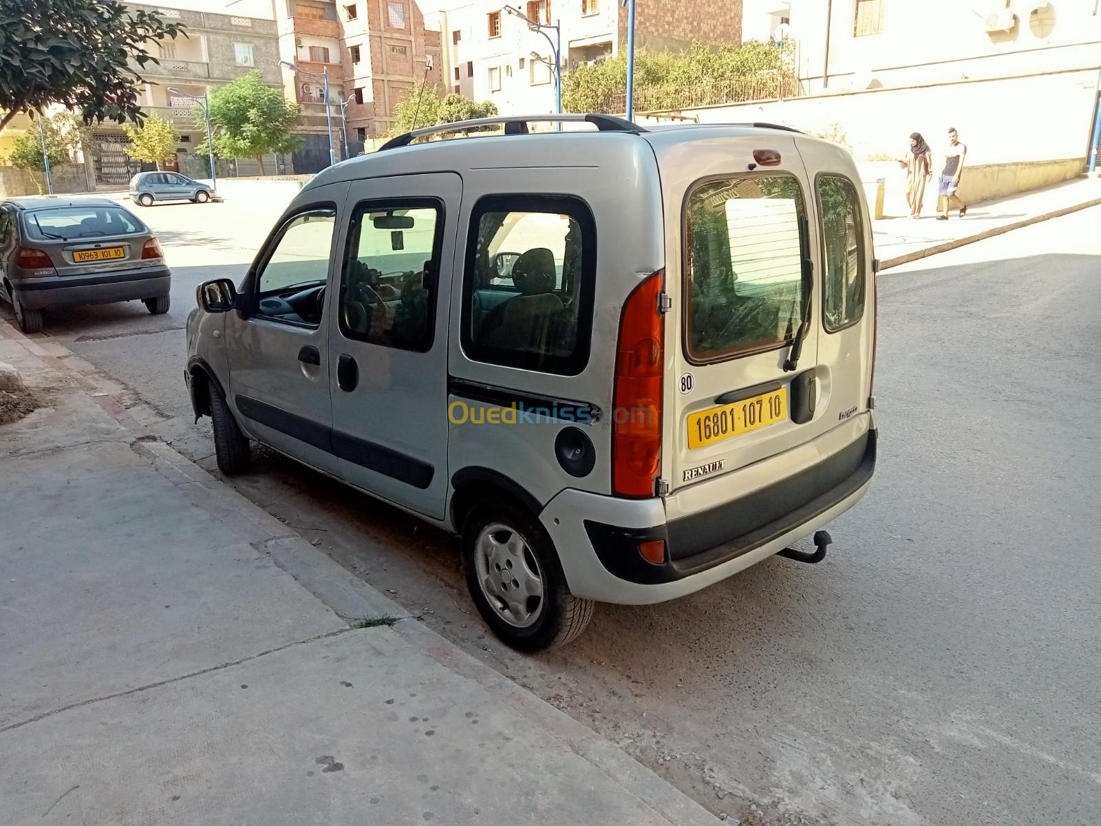
[[438, 202], [425, 199], [356, 207], [340, 280], [345, 337], [419, 352], [432, 348], [442, 215]]

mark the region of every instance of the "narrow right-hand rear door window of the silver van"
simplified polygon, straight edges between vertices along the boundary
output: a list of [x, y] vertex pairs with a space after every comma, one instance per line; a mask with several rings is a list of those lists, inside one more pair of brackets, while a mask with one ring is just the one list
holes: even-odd
[[821, 175], [818, 207], [826, 247], [822, 324], [827, 332], [836, 333], [859, 322], [864, 313], [866, 279], [860, 198], [848, 178]]

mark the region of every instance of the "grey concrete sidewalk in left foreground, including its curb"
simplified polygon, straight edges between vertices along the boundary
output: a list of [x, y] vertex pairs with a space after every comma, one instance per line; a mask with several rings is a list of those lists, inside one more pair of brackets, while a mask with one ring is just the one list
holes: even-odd
[[[52, 355], [53, 354], [53, 355]], [[0, 426], [0, 820], [713, 824], [94, 395]]]

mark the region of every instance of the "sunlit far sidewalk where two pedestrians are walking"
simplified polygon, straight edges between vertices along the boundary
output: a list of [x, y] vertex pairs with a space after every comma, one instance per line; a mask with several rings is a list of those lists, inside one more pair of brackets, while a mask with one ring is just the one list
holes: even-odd
[[[880, 269], [886, 270], [937, 252], [1007, 232], [1029, 224], [1101, 204], [1101, 178], [1078, 177], [1065, 184], [1015, 195], [1011, 198], [975, 204], [967, 217], [956, 211], [947, 221], [936, 219], [936, 181], [926, 188], [925, 214], [919, 220], [902, 217], [872, 221], [875, 254]], [[887, 214], [904, 213], [905, 204], [889, 203]]]

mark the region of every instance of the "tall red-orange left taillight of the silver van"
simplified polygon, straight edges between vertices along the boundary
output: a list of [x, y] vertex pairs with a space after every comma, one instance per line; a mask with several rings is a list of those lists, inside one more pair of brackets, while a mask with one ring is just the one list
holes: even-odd
[[665, 280], [655, 272], [628, 296], [615, 346], [612, 410], [612, 492], [654, 496], [662, 456], [662, 374], [665, 335], [657, 298]]

